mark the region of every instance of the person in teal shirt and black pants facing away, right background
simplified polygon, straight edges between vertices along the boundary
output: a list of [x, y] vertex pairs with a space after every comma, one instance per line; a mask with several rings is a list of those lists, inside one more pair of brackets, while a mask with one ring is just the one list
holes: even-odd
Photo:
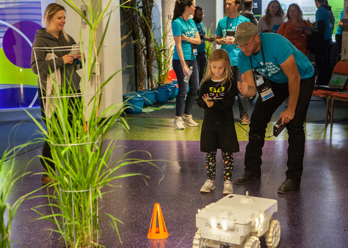
[[316, 85], [327, 85], [331, 74], [329, 65], [329, 46], [332, 40], [335, 18], [331, 6], [325, 4], [325, 0], [315, 0], [317, 11], [315, 13], [315, 28], [319, 32], [313, 32], [316, 41], [315, 66], [317, 69]]

